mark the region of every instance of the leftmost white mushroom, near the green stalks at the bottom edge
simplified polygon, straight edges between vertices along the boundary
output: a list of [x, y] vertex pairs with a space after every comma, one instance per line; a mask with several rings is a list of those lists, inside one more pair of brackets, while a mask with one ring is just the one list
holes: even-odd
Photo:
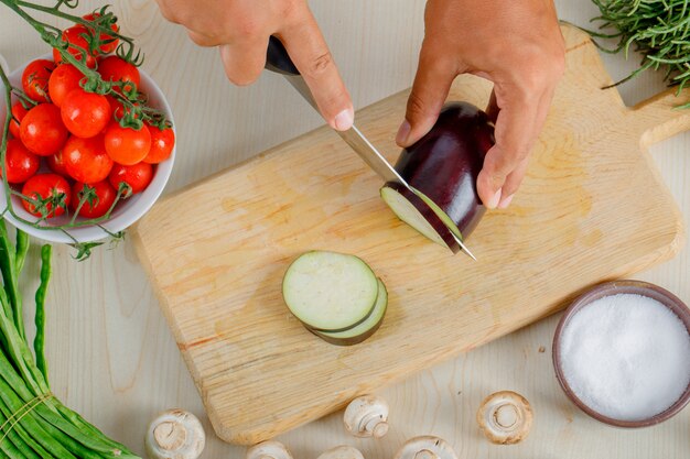
[[151, 422], [144, 445], [150, 459], [196, 459], [204, 450], [206, 436], [192, 413], [170, 409]]

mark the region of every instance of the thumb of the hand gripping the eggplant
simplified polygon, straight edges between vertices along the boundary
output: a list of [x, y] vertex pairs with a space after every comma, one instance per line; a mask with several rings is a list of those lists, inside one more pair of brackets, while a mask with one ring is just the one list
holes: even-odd
[[405, 121], [396, 135], [398, 145], [409, 146], [433, 128], [457, 74], [457, 66], [452, 61], [439, 58], [435, 46], [425, 40], [419, 55]]

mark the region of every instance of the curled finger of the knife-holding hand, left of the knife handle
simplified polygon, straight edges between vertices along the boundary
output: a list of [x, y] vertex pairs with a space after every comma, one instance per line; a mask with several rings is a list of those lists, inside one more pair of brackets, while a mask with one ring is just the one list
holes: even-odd
[[268, 36], [220, 45], [220, 58], [227, 78], [238, 86], [256, 81], [266, 65], [267, 48]]

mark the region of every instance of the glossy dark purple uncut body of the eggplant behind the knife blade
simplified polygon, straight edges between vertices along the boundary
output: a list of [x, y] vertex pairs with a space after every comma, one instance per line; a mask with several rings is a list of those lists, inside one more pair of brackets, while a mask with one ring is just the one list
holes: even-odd
[[402, 150], [396, 171], [441, 207], [465, 239], [486, 211], [476, 182], [494, 143], [494, 124], [484, 111], [451, 102], [427, 135]]

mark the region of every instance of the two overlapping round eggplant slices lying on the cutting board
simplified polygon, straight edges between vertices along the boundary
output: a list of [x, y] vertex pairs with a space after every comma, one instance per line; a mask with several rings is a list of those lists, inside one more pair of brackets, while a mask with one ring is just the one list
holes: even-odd
[[320, 338], [341, 346], [364, 341], [388, 306], [382, 282], [362, 259], [311, 251], [290, 264], [282, 283], [285, 305]]

